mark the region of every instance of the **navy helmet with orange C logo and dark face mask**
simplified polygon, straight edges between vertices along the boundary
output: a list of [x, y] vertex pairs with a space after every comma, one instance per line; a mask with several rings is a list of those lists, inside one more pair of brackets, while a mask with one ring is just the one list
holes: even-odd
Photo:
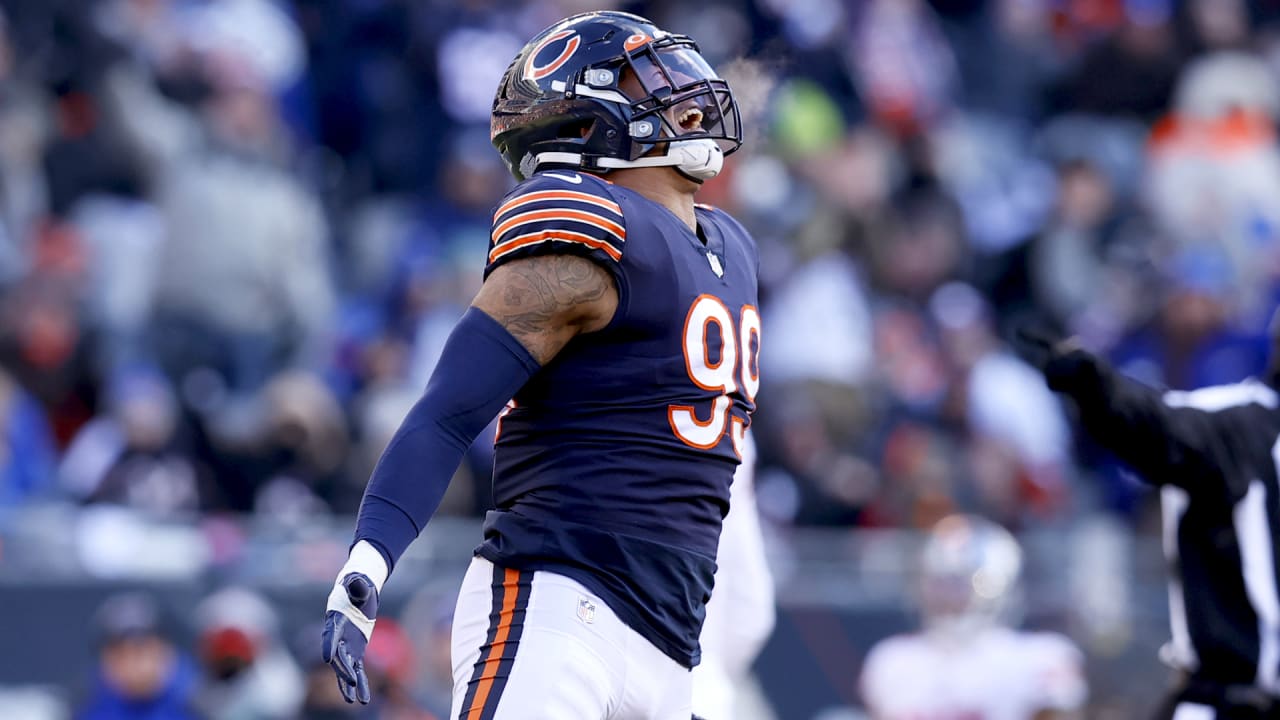
[[517, 179], [539, 169], [673, 167], [701, 182], [742, 143], [733, 92], [698, 45], [618, 12], [529, 41], [493, 101], [490, 140]]

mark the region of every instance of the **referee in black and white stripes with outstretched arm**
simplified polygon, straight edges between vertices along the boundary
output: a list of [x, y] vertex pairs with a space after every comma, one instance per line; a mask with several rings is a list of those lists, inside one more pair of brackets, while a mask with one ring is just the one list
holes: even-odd
[[1280, 313], [1265, 379], [1160, 392], [1038, 331], [1021, 354], [1079, 421], [1160, 486], [1176, 684], [1156, 720], [1280, 717]]

